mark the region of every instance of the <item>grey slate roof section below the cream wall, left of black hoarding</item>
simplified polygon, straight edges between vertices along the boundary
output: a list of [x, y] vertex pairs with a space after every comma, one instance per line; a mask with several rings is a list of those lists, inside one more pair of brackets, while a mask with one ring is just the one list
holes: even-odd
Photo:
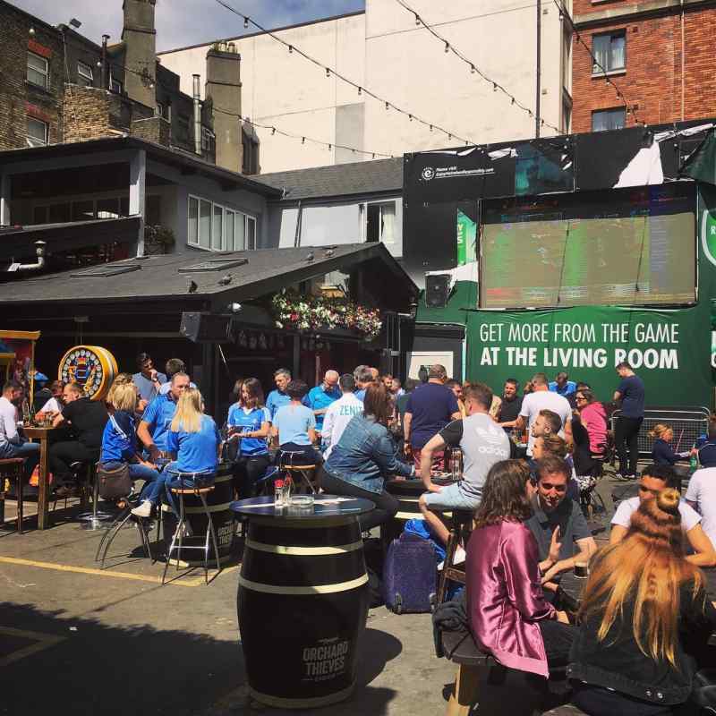
[[284, 200], [403, 191], [403, 158], [376, 159], [253, 177], [285, 191]]

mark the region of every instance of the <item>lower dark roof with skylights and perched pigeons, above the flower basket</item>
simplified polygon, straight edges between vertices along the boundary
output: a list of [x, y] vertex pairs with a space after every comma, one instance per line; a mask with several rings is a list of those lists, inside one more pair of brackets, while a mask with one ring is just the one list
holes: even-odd
[[[246, 301], [376, 259], [402, 280], [406, 289], [417, 293], [413, 281], [381, 243], [347, 243], [231, 253], [190, 251], [74, 268], [0, 284], [0, 312], [13, 304], [32, 311], [33, 305], [40, 303]], [[192, 270], [199, 264], [204, 270]], [[208, 264], [217, 268], [209, 270]], [[81, 276], [85, 272], [87, 275]]]

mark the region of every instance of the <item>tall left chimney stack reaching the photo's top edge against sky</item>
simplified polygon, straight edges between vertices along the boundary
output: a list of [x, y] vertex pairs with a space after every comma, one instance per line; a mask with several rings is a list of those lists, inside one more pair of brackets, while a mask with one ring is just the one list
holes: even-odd
[[157, 31], [154, 5], [157, 0], [124, 0], [124, 90], [130, 99], [146, 107], [157, 106]]

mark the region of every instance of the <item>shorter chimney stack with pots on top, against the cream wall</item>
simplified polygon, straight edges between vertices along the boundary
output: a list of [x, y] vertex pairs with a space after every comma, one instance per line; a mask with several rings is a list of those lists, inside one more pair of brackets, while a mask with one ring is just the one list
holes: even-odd
[[[241, 55], [236, 52], [233, 42], [227, 45], [222, 42], [209, 49], [204, 94], [211, 98], [214, 108], [217, 166], [241, 172]], [[219, 109], [226, 111], [219, 112]]]

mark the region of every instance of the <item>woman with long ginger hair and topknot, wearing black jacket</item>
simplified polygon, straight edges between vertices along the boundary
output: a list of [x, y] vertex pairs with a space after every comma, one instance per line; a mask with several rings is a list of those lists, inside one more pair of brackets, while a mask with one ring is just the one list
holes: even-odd
[[644, 500], [625, 538], [598, 552], [568, 674], [584, 712], [669, 714], [692, 690], [692, 640], [716, 627], [703, 575], [685, 559], [678, 490]]

